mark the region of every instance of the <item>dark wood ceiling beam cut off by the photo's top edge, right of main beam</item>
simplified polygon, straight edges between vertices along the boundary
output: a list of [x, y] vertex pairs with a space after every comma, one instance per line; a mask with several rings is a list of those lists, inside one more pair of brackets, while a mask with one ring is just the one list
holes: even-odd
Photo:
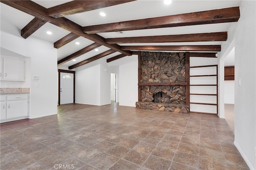
[[74, 0], [65, 4], [48, 8], [47, 14], [53, 18], [60, 18], [67, 15], [97, 10], [100, 8], [123, 4], [131, 1], [134, 0]]

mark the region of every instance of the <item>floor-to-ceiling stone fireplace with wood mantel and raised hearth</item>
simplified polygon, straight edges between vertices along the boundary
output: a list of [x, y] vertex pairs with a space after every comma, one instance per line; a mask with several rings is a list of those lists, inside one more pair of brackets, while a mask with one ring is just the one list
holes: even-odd
[[185, 58], [185, 53], [141, 52], [136, 108], [188, 113]]

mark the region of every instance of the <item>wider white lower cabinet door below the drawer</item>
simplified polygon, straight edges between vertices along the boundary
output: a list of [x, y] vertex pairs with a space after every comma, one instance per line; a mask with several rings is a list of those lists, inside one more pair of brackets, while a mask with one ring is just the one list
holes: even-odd
[[28, 115], [28, 100], [6, 102], [6, 118], [22, 117]]

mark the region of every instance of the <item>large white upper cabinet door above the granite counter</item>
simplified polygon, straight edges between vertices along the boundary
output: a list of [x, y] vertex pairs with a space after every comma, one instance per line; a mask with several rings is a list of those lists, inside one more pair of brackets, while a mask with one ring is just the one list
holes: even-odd
[[3, 80], [24, 80], [25, 60], [14, 57], [3, 59]]

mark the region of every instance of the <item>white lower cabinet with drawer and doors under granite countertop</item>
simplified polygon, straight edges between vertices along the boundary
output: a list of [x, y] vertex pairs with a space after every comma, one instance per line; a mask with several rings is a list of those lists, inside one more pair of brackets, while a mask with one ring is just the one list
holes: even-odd
[[1, 123], [28, 117], [28, 108], [28, 94], [1, 96]]

